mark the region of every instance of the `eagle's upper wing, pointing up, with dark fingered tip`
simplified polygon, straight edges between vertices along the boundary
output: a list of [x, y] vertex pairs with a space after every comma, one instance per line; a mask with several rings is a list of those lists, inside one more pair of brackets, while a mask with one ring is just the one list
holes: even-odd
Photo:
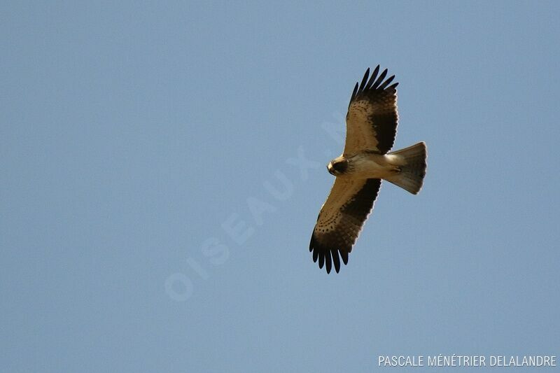
[[374, 150], [386, 154], [393, 147], [397, 133], [397, 90], [398, 83], [387, 78], [387, 69], [379, 76], [379, 65], [371, 78], [370, 69], [365, 71], [362, 83], [354, 87], [348, 113], [346, 114], [346, 144], [344, 155], [354, 155], [362, 150]]

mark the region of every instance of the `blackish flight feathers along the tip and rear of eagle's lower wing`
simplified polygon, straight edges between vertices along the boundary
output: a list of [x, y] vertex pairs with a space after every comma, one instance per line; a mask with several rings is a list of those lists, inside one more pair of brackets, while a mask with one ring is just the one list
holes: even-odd
[[[325, 266], [327, 273], [330, 273], [332, 265], [334, 265], [335, 271], [338, 273], [340, 258], [344, 265], [348, 264], [348, 254], [352, 251], [352, 246], [356, 242], [367, 216], [372, 211], [380, 186], [381, 179], [367, 179], [363, 187], [342, 206], [343, 217], [335, 230], [319, 234], [314, 232], [311, 235], [309, 251], [313, 253], [313, 261], [318, 260], [319, 268]], [[319, 218], [321, 218], [321, 213], [317, 220]]]

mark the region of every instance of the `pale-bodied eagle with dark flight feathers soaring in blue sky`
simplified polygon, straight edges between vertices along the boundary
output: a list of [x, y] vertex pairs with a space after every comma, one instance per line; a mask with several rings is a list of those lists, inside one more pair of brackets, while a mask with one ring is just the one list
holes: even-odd
[[[321, 207], [311, 234], [309, 251], [319, 268], [332, 265], [338, 273], [370, 215], [381, 180], [416, 195], [426, 175], [426, 143], [390, 152], [398, 124], [397, 85], [379, 65], [353, 89], [346, 114], [346, 142], [342, 155], [327, 169], [335, 183]], [[391, 84], [393, 83], [393, 84]]]

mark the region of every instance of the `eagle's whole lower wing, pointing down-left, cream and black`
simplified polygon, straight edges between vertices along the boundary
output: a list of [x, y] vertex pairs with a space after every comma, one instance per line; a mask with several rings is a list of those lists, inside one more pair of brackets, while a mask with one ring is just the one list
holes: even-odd
[[379, 178], [336, 178], [309, 243], [313, 261], [319, 260], [319, 268], [326, 264], [330, 273], [334, 263], [339, 272], [340, 258], [345, 265], [348, 263], [348, 254], [372, 211], [380, 186]]

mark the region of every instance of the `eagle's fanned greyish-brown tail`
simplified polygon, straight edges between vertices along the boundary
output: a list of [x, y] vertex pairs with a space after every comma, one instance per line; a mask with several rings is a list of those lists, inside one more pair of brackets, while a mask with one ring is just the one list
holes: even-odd
[[389, 154], [400, 155], [405, 164], [399, 167], [400, 172], [398, 174], [386, 178], [386, 181], [408, 190], [413, 195], [418, 194], [426, 175], [426, 143], [416, 143], [413, 146]]

